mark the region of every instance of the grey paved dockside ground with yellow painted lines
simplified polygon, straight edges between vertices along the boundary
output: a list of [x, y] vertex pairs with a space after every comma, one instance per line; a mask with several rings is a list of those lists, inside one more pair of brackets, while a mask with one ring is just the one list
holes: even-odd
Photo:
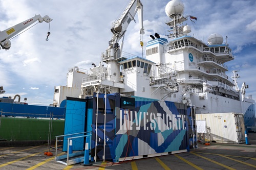
[[[199, 143], [190, 152], [124, 161], [119, 163], [92, 162], [65, 165], [46, 156], [47, 145], [33, 147], [0, 147], [0, 169], [256, 169], [256, 133], [248, 134], [249, 144]], [[10, 151], [15, 151], [11, 153]], [[57, 155], [63, 155], [61, 151]]]

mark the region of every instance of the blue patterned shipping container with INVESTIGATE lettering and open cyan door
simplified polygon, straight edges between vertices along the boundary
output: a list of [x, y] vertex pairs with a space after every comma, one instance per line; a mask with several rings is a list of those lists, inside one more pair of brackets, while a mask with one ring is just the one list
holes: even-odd
[[[98, 94], [67, 98], [65, 135], [92, 131], [91, 160], [119, 162], [196, 148], [195, 114], [183, 103]], [[74, 136], [73, 136], [74, 137]], [[73, 140], [73, 151], [84, 140]], [[63, 151], [67, 151], [64, 139]]]

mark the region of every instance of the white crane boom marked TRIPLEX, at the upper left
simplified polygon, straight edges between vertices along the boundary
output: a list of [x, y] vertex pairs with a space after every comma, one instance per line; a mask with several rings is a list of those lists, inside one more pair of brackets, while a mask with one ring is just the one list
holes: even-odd
[[28, 28], [36, 21], [39, 21], [40, 23], [43, 21], [51, 22], [52, 19], [47, 15], [44, 17], [41, 17], [40, 15], [35, 15], [34, 17], [20, 22], [11, 28], [8, 28], [2, 32], [0, 31], [0, 45], [2, 46], [2, 48], [5, 50], [9, 50], [9, 48], [11, 47], [11, 41], [9, 39], [22, 32], [24, 29]]

